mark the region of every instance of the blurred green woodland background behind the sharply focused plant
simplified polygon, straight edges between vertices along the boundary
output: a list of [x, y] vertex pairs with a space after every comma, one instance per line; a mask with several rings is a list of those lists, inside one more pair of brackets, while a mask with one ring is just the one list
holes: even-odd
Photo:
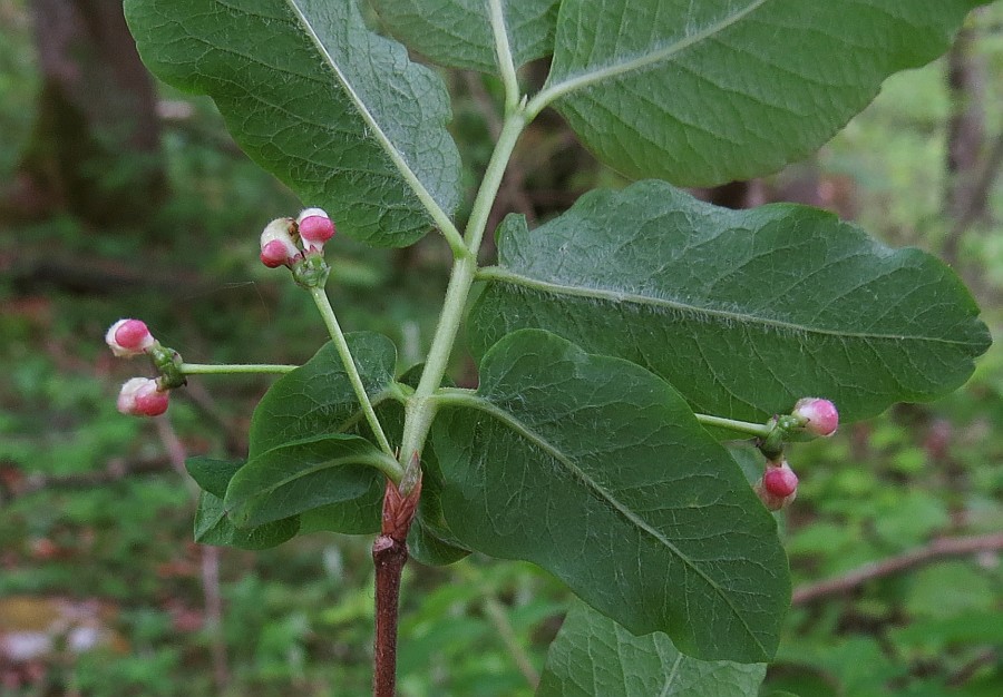
[[[88, 55], [36, 33], [90, 4], [103, 3], [0, 0], [0, 695], [366, 695], [369, 539], [317, 534], [261, 553], [192, 542], [192, 482], [177, 459], [244, 454], [270, 379], [192, 379], [157, 421], [115, 411], [118, 385], [149, 373], [107, 351], [104, 332], [119, 317], [144, 318], [199, 363], [301, 363], [325, 333], [288, 275], [257, 262], [261, 227], [299, 202], [232, 145], [212, 102], [155, 85], [142, 134], [101, 130], [104, 97], [75, 92], [86, 80], [67, 65], [127, 63], [128, 47], [80, 30], [67, 46], [104, 50]], [[64, 10], [70, 20], [53, 19]], [[525, 78], [545, 75], [534, 65]], [[473, 186], [498, 86], [445, 77]], [[999, 341], [1001, 144], [997, 3], [973, 14], [950, 58], [888, 80], [811, 161], [700, 194], [821, 205], [889, 244], [948, 258]], [[508, 210], [546, 219], [593, 186], [622, 184], [545, 115], [516, 153], [494, 220]], [[391, 252], [339, 236], [329, 258], [342, 325], [393, 338], [401, 369], [418, 362], [447, 277], [441, 239]], [[454, 377], [468, 383], [461, 354]], [[918, 557], [839, 592], [797, 596], [763, 694], [1003, 695], [1003, 347], [957, 393], [798, 445], [790, 460], [801, 487], [781, 527], [802, 593]], [[944, 554], [945, 538], [985, 549]], [[535, 568], [476, 556], [409, 565], [402, 595], [402, 697], [530, 695], [567, 601]]]

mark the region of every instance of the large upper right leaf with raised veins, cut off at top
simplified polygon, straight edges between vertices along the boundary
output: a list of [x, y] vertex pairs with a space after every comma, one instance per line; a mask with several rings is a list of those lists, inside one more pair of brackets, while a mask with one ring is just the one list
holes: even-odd
[[564, 0], [535, 101], [632, 177], [746, 179], [816, 150], [984, 1]]

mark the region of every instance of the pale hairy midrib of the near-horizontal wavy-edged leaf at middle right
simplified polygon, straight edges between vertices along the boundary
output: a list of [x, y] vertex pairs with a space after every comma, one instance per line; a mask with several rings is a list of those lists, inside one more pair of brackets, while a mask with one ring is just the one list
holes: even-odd
[[552, 295], [566, 295], [569, 297], [583, 297], [587, 300], [608, 301], [612, 303], [633, 303], [637, 305], [650, 305], [653, 307], [663, 307], [666, 310], [675, 310], [693, 315], [705, 315], [709, 317], [719, 317], [727, 322], [734, 322], [743, 325], [752, 326], [772, 326], [787, 332], [800, 332], [805, 334], [815, 334], [819, 336], [836, 336], [839, 338], [859, 338], [861, 341], [923, 341], [938, 344], [947, 344], [952, 346], [971, 346], [971, 342], [944, 338], [939, 336], [919, 336], [915, 334], [877, 334], [865, 332], [846, 332], [837, 330], [825, 330], [820, 327], [797, 324], [795, 322], [785, 322], [782, 320], [770, 320], [757, 315], [729, 312], [727, 310], [718, 310], [713, 307], [700, 307], [689, 303], [679, 301], [652, 297], [650, 295], [640, 295], [637, 293], [623, 293], [617, 291], [608, 291], [606, 288], [571, 286], [552, 281], [543, 281], [525, 276], [516, 272], [509, 271], [501, 266], [487, 266], [477, 272], [480, 281], [498, 281], [512, 285], [523, 286], [541, 293]]

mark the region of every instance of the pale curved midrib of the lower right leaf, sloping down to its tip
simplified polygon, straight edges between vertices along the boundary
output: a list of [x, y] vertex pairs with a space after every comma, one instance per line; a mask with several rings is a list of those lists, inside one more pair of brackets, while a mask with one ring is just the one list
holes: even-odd
[[436, 395], [436, 401], [440, 404], [449, 404], [449, 405], [459, 405], [459, 406], [469, 406], [471, 409], [476, 409], [485, 412], [486, 414], [494, 416], [498, 421], [500, 421], [504, 425], [508, 426], [518, 435], [525, 438], [530, 441], [533, 444], [538, 446], [541, 450], [547, 452], [553, 457], [557, 462], [563, 464], [572, 474], [574, 474], [578, 481], [583, 482], [588, 489], [595, 492], [598, 497], [601, 497], [604, 501], [606, 501], [610, 505], [614, 508], [621, 516], [623, 516], [630, 523], [636, 526], [639, 529], [643, 530], [652, 538], [654, 538], [658, 542], [664, 544], [664, 547], [672, 552], [681, 562], [683, 562], [686, 567], [692, 569], [700, 578], [704, 580], [704, 582], [713, 589], [714, 593], [724, 601], [724, 603], [731, 609], [734, 617], [739, 620], [742, 628], [747, 631], [748, 636], [756, 641], [756, 646], [763, 652], [763, 655], [768, 655], [769, 651], [759, 640], [759, 637], [756, 636], [756, 632], [752, 631], [752, 628], [746, 621], [746, 618], [739, 612], [738, 608], [736, 608], [731, 598], [723, 591], [723, 589], [712, 579], [710, 578], [703, 569], [697, 566], [689, 557], [686, 557], [675, 544], [673, 544], [670, 540], [668, 540], [661, 532], [652, 528], [644, 520], [640, 519], [633, 511], [631, 511], [627, 507], [621, 503], [617, 499], [615, 499], [611, 493], [608, 493], [605, 489], [603, 489], [597, 482], [595, 482], [591, 477], [588, 477], [585, 472], [578, 468], [567, 455], [565, 455], [556, 445], [551, 443], [547, 439], [532, 430], [529, 426], [524, 424], [522, 421], [516, 419], [512, 413], [505, 411], [494, 402], [490, 402], [483, 396], [470, 393], [458, 393], [458, 392], [448, 392], [448, 393], [439, 393]]

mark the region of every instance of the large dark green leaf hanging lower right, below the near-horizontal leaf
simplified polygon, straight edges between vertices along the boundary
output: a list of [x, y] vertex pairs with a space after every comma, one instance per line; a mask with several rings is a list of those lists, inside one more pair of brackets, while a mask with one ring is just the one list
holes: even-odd
[[776, 524], [664, 381], [541, 331], [442, 391], [431, 439], [459, 541], [533, 561], [635, 634], [768, 659], [790, 580]]

